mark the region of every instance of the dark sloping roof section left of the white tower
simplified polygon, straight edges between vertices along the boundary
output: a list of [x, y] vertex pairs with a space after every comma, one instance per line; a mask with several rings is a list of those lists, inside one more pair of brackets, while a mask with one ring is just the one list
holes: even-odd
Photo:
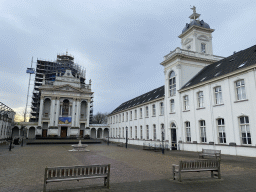
[[153, 100], [161, 98], [163, 96], [164, 96], [164, 85], [157, 89], [149, 91], [143, 95], [140, 95], [134, 99], [131, 99], [129, 101], [122, 103], [119, 107], [117, 107], [114, 111], [112, 111], [110, 113], [110, 115], [113, 113], [125, 110], [125, 109], [135, 107], [137, 105], [149, 102], [149, 101], [153, 101]]

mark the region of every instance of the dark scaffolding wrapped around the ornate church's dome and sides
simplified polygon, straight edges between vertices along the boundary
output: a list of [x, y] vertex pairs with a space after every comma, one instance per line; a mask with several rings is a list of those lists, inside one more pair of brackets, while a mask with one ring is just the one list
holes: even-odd
[[[37, 59], [36, 75], [34, 81], [34, 90], [32, 93], [31, 117], [30, 122], [38, 122], [40, 111], [41, 93], [39, 87], [43, 84], [43, 78], [47, 84], [53, 84], [57, 76], [62, 76], [66, 70], [71, 70], [74, 77], [80, 79], [81, 85], [85, 85], [86, 70], [77, 63], [74, 63], [74, 57], [68, 53], [57, 54], [56, 61], [46, 61]], [[90, 122], [93, 115], [93, 105], [90, 105]]]

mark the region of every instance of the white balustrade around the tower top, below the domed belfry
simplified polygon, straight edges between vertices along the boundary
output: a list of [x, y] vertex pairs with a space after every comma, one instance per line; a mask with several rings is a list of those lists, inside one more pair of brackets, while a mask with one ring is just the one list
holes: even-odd
[[165, 61], [168, 60], [169, 58], [171, 58], [175, 54], [183, 54], [183, 55], [188, 55], [188, 56], [192, 56], [192, 57], [212, 59], [212, 60], [216, 60], [216, 61], [224, 58], [224, 57], [220, 57], [220, 56], [216, 56], [216, 55], [210, 55], [210, 54], [207, 54], [207, 53], [199, 53], [199, 52], [189, 51], [189, 50], [185, 50], [185, 49], [180, 49], [179, 47], [177, 47], [174, 51], [165, 55], [164, 60]]

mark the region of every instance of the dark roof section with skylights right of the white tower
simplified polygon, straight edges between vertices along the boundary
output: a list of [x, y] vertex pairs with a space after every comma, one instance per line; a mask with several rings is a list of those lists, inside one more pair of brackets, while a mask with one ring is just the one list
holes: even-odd
[[181, 90], [255, 64], [256, 45], [204, 67]]

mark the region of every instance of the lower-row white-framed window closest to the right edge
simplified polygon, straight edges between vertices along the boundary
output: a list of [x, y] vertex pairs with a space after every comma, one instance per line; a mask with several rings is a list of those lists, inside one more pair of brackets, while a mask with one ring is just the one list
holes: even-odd
[[240, 117], [240, 128], [242, 136], [242, 144], [252, 144], [249, 117]]

